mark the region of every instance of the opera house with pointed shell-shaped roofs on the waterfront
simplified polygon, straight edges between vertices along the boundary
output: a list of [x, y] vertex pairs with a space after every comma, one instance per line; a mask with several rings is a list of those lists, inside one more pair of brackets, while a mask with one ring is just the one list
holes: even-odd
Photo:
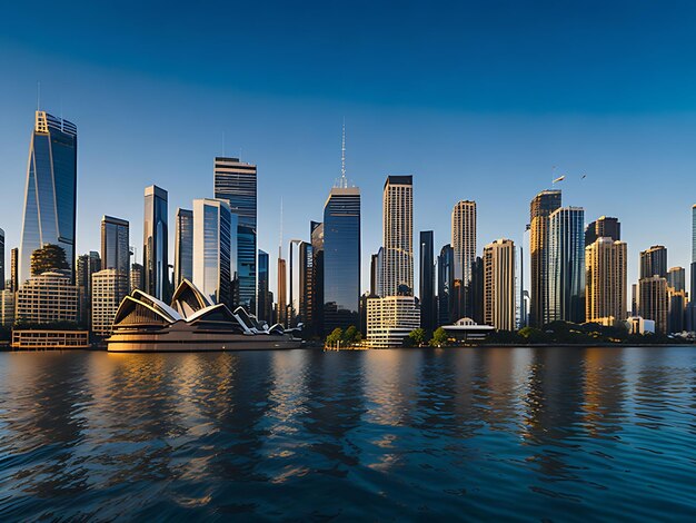
[[242, 307], [213, 304], [183, 280], [171, 305], [142, 290], [126, 296], [113, 318], [110, 352], [191, 352], [299, 348], [297, 330], [260, 325]]

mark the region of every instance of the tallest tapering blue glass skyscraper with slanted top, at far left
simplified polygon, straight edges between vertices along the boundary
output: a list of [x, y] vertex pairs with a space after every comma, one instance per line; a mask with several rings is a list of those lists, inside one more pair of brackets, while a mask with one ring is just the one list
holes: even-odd
[[37, 111], [29, 146], [19, 284], [31, 276], [31, 254], [46, 244], [66, 251], [74, 278], [78, 130], [74, 124]]

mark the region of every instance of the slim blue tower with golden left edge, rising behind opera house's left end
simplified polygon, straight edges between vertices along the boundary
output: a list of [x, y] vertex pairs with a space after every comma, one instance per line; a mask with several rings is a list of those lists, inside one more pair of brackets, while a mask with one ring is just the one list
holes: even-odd
[[145, 292], [166, 303], [170, 298], [167, 198], [167, 191], [156, 185], [145, 189]]

